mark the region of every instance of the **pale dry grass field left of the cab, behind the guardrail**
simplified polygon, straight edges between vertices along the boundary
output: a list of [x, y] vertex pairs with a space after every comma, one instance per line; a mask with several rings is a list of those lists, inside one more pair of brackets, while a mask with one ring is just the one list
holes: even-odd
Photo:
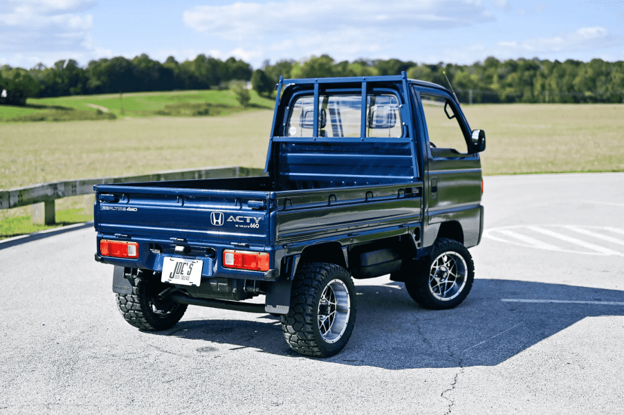
[[0, 188], [219, 165], [264, 167], [272, 114], [0, 124]]

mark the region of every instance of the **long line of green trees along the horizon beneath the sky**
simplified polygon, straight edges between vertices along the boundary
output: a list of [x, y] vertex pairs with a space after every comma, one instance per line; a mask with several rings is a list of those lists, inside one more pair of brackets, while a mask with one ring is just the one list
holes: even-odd
[[410, 78], [445, 86], [448, 77], [461, 102], [624, 102], [624, 62], [602, 59], [501, 61], [488, 57], [484, 62], [458, 65], [418, 64], [400, 59], [336, 62], [329, 55], [322, 55], [301, 62], [265, 61], [253, 71], [250, 64], [234, 57], [221, 61], [198, 55], [182, 63], [169, 57], [161, 63], [144, 54], [134, 59], [93, 60], [84, 67], [73, 59], [60, 60], [49, 68], [38, 64], [30, 70], [5, 65], [0, 68], [0, 104], [25, 104], [29, 97], [225, 88], [232, 80], [251, 81], [258, 93], [270, 96], [279, 75], [374, 76], [397, 75], [401, 71], [407, 71]]

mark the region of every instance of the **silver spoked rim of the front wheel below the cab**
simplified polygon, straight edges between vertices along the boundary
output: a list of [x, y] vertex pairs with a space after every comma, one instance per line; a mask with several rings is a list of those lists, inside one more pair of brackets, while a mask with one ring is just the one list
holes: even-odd
[[443, 252], [431, 264], [429, 291], [440, 301], [449, 301], [461, 293], [468, 279], [466, 261], [457, 252]]

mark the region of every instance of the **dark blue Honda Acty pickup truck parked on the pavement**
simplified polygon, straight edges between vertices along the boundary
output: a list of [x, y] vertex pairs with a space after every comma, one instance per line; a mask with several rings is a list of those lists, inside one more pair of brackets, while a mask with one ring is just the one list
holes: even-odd
[[114, 266], [125, 320], [269, 313], [322, 357], [354, 330], [352, 278], [389, 274], [425, 308], [464, 301], [486, 143], [454, 94], [403, 73], [280, 79], [277, 97], [266, 176], [95, 185], [95, 260]]

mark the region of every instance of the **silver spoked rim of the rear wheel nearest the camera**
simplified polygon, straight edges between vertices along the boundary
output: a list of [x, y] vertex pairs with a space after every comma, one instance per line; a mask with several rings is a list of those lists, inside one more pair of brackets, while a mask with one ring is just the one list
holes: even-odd
[[318, 303], [318, 329], [324, 341], [335, 343], [347, 329], [351, 313], [351, 298], [347, 286], [340, 279], [327, 284]]

